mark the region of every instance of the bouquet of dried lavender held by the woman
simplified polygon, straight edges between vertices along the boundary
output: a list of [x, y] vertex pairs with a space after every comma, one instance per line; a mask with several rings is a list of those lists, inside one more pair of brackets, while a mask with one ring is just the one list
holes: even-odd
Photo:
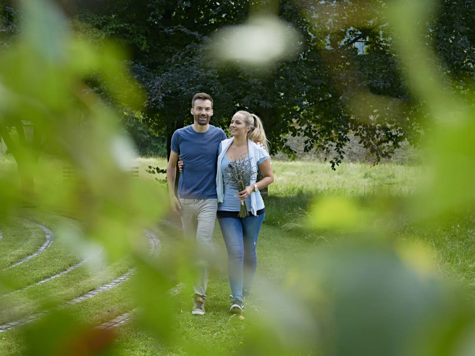
[[[241, 155], [239, 160], [235, 159], [229, 163], [228, 168], [224, 169], [224, 182], [229, 184], [238, 192], [243, 191], [249, 185], [251, 179], [256, 178], [256, 173], [253, 172], [251, 161], [246, 157], [246, 154]], [[237, 197], [237, 196], [235, 196]], [[239, 217], [249, 216], [246, 202], [241, 200], [241, 209], [239, 210]]]

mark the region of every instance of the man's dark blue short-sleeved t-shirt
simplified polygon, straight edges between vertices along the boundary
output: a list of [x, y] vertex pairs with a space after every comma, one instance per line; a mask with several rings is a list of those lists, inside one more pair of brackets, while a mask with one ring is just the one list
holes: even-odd
[[178, 197], [185, 199], [217, 198], [216, 165], [218, 148], [226, 140], [223, 130], [209, 125], [206, 132], [196, 132], [193, 126], [178, 129], [171, 137], [171, 150], [183, 161], [178, 182]]

